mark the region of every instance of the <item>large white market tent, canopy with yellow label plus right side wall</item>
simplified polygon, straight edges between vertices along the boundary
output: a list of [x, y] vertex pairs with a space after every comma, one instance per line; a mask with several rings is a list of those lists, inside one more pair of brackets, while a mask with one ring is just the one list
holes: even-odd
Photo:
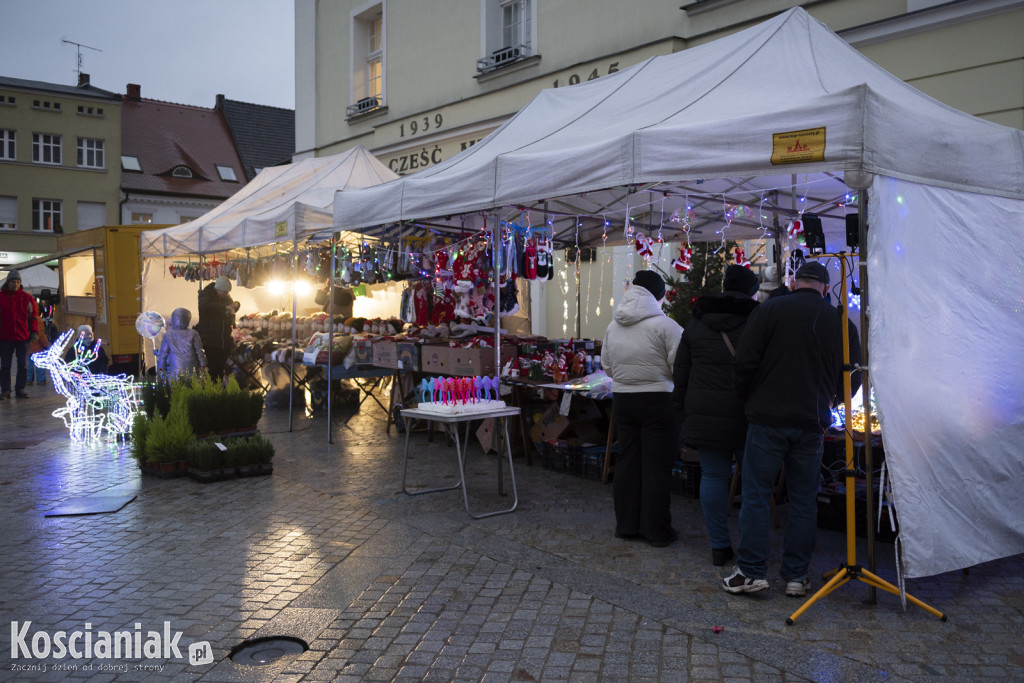
[[904, 574], [1024, 552], [1024, 132], [921, 93], [799, 7], [545, 90], [437, 166], [339, 193], [334, 226], [528, 215], [581, 244], [614, 221], [735, 240], [772, 234], [766, 212], [835, 223], [848, 194], [869, 215], [869, 376]]

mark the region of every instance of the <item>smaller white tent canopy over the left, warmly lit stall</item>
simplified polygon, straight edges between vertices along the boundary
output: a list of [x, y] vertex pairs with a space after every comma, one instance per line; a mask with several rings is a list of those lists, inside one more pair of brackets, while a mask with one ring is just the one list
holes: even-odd
[[303, 240], [331, 229], [335, 191], [397, 177], [362, 146], [265, 168], [200, 218], [142, 233], [142, 256], [207, 254]]

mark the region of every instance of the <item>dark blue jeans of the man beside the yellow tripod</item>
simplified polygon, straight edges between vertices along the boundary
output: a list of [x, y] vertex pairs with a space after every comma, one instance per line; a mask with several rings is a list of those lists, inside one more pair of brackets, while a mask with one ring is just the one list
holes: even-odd
[[743, 451], [743, 506], [739, 510], [739, 559], [744, 575], [768, 575], [769, 500], [785, 464], [788, 509], [779, 574], [784, 581], [807, 578], [817, 536], [817, 494], [824, 435], [788, 427], [750, 425]]

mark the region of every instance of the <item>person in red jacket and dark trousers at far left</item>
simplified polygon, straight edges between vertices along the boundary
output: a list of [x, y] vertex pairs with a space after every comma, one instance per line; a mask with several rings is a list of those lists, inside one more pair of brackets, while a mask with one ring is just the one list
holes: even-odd
[[11, 270], [0, 289], [0, 400], [10, 399], [10, 359], [17, 358], [14, 395], [28, 398], [29, 342], [39, 338], [39, 307], [22, 289], [22, 273]]

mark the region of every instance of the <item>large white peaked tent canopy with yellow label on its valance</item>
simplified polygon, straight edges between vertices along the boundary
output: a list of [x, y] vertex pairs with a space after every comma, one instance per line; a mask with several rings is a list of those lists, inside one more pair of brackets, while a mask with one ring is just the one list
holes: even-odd
[[[1022, 157], [1021, 131], [921, 93], [797, 7], [706, 45], [544, 90], [462, 154], [338, 194], [334, 224], [443, 223], [500, 208], [511, 218], [528, 208], [534, 225], [554, 219], [566, 241], [574, 216], [590, 217], [580, 241], [594, 242], [604, 232], [594, 216], [622, 221], [630, 207], [634, 220], [646, 212], [646, 223], [658, 225], [663, 212], [689, 206], [691, 237], [710, 240], [728, 213], [723, 194], [755, 215], [795, 214], [835, 208], [847, 185], [873, 173], [1020, 199]], [[787, 201], [800, 184], [793, 174], [806, 177], [803, 205]], [[785, 197], [774, 194], [780, 188]], [[733, 239], [763, 234], [760, 218], [726, 222]]]

